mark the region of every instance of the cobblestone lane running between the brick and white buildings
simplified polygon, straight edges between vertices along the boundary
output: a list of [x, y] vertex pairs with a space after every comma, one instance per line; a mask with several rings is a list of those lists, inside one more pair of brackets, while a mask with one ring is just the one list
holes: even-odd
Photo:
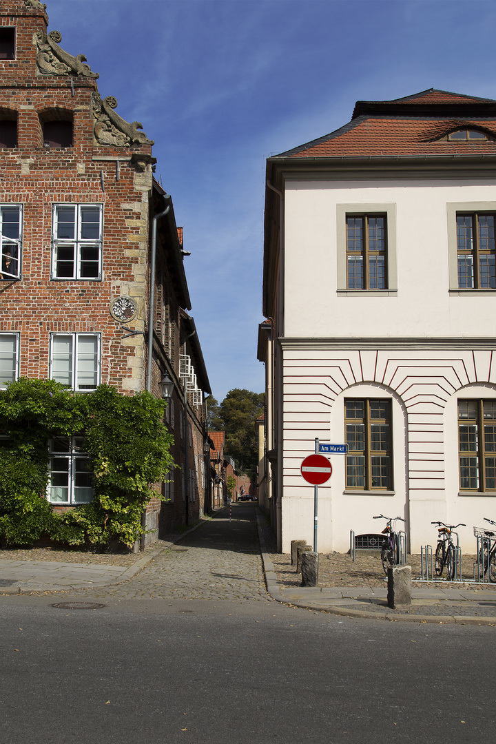
[[[115, 587], [81, 589], [100, 599], [269, 601], [263, 580], [254, 504], [233, 504]], [[155, 548], [157, 543], [154, 544]], [[74, 592], [71, 592], [74, 594]]]

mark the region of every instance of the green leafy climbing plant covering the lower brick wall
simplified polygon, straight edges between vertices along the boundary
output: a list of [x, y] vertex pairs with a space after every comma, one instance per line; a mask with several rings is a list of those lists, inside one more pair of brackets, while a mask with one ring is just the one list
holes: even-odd
[[[68, 391], [53, 380], [21, 378], [0, 391], [0, 545], [49, 537], [70, 545], [131, 546], [141, 536], [150, 484], [173, 468], [164, 403], [109, 385]], [[47, 501], [48, 440], [85, 437], [94, 498], [63, 513]]]

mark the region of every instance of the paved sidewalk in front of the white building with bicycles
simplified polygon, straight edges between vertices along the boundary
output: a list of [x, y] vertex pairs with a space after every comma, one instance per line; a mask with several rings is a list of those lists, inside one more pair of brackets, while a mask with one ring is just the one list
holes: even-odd
[[466, 589], [460, 585], [412, 589], [412, 605], [408, 610], [392, 610], [387, 606], [387, 586], [303, 587], [283, 586], [278, 580], [268, 551], [271, 530], [265, 519], [257, 516], [265, 583], [268, 593], [277, 602], [296, 607], [347, 615], [355, 618], [394, 620], [414, 623], [462, 623], [496, 626], [496, 586], [478, 585]]

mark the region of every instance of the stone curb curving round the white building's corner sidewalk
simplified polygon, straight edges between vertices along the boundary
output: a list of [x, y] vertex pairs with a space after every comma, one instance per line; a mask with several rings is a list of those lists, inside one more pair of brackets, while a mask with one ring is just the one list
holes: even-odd
[[[286, 604], [291, 607], [300, 607], [302, 609], [313, 609], [316, 612], [328, 612], [329, 615], [341, 615], [346, 618], [366, 618], [367, 620], [389, 620], [394, 623], [436, 623], [437, 625], [489, 625], [496, 626], [495, 618], [477, 618], [473, 615], [393, 615], [391, 612], [367, 612], [363, 609], [347, 609], [339, 606], [329, 606], [324, 604], [309, 604], [300, 601], [289, 600], [284, 597], [280, 590], [277, 574], [274, 570], [274, 563], [271, 561], [267, 551], [267, 544], [262, 531], [262, 514], [260, 507], [257, 508], [257, 527], [258, 538], [260, 541], [260, 553], [262, 555], [263, 572], [265, 574], [265, 584], [268, 594], [276, 602]], [[345, 600], [344, 601], [349, 601]]]

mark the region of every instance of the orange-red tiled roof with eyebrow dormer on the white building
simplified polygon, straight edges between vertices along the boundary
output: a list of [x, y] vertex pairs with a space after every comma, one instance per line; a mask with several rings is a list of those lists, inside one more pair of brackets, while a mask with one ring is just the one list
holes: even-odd
[[[420, 108], [422, 106], [422, 109]], [[431, 89], [393, 101], [358, 101], [358, 116], [329, 135], [283, 153], [291, 158], [496, 153], [496, 101]], [[439, 141], [454, 129], [492, 140]]]

